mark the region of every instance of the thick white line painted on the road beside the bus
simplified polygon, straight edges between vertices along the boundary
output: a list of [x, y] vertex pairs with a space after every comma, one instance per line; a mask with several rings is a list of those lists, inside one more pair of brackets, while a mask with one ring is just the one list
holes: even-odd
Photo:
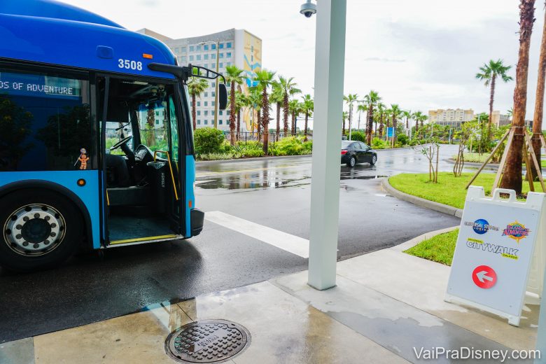
[[302, 258], [309, 258], [309, 240], [302, 237], [267, 228], [267, 226], [225, 214], [222, 211], [206, 212], [205, 218], [211, 223], [222, 225], [224, 228], [235, 230], [295, 255], [300, 255]]

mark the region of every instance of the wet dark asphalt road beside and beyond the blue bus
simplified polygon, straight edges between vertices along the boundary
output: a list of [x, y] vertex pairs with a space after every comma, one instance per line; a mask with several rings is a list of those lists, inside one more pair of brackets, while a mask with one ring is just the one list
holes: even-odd
[[[440, 170], [455, 146], [442, 146]], [[400, 244], [458, 224], [452, 216], [386, 195], [379, 176], [428, 172], [412, 149], [379, 151], [377, 165], [342, 167], [339, 259]], [[309, 237], [311, 158], [197, 165], [197, 207], [221, 211], [295, 237]], [[83, 325], [307, 269], [307, 259], [205, 221], [202, 234], [73, 258], [32, 274], [0, 271], [0, 342]]]

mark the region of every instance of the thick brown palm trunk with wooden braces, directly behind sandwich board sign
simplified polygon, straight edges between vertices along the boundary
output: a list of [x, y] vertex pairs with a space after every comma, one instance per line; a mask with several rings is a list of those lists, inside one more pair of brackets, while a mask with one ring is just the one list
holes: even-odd
[[535, 21], [535, 0], [521, 0], [519, 4], [519, 56], [516, 66], [516, 88], [514, 90], [514, 111], [512, 127], [514, 139], [506, 160], [506, 169], [500, 183], [502, 188], [510, 188], [521, 193], [521, 158], [524, 144], [525, 104], [527, 102], [527, 73], [529, 67], [529, 45]]

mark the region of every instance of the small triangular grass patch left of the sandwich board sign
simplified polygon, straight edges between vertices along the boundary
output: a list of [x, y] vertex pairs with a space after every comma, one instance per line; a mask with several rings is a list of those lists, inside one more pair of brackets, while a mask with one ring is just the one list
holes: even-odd
[[444, 232], [430, 239], [421, 241], [416, 246], [407, 249], [404, 253], [415, 255], [419, 258], [433, 260], [445, 265], [451, 265], [453, 253], [457, 242], [458, 229]]

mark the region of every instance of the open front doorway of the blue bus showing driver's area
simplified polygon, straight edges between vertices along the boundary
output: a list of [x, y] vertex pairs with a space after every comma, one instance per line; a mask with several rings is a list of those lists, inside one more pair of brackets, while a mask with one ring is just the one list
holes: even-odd
[[184, 165], [176, 83], [116, 77], [103, 83], [106, 246], [183, 237]]

